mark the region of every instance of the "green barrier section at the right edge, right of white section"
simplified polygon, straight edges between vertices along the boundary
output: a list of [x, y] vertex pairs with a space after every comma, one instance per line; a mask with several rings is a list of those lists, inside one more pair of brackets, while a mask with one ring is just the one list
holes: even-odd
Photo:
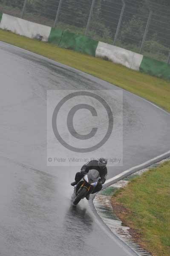
[[149, 57], [143, 57], [139, 70], [151, 76], [170, 79], [170, 65]]

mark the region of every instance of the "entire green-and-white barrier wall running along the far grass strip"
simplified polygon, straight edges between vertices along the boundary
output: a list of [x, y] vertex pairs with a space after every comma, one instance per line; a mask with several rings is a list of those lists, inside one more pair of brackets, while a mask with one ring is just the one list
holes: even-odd
[[170, 80], [170, 65], [120, 47], [95, 41], [84, 35], [54, 29], [1, 13], [0, 29], [6, 29], [29, 38], [42, 38], [42, 41], [48, 41], [62, 48], [104, 58], [130, 69]]

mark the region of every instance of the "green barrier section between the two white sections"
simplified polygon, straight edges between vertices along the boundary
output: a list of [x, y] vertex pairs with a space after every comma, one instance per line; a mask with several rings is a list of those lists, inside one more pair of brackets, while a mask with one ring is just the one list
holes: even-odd
[[95, 41], [84, 35], [76, 35], [69, 31], [63, 31], [59, 46], [95, 56], [95, 50], [98, 46], [98, 41]]

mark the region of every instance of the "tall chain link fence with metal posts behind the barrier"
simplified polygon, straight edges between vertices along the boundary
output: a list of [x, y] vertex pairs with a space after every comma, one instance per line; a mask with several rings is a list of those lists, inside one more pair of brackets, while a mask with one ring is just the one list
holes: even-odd
[[170, 64], [170, 5], [154, 0], [0, 0], [0, 12]]

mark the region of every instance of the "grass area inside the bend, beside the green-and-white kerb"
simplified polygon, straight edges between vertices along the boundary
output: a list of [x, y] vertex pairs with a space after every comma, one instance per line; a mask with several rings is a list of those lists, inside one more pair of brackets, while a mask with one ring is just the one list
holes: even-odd
[[170, 256], [170, 161], [134, 178], [112, 198], [124, 224], [154, 256]]

